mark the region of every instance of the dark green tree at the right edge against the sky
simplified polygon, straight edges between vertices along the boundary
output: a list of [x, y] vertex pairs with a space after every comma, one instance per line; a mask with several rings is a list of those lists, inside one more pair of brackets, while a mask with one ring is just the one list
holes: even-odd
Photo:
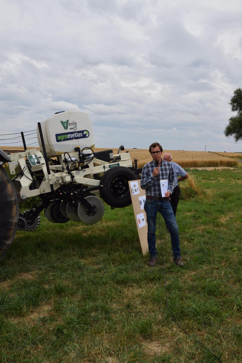
[[234, 95], [231, 97], [229, 105], [232, 112], [237, 111], [237, 116], [230, 117], [223, 133], [227, 137], [233, 136], [235, 142], [242, 141], [242, 89], [240, 87], [234, 90]]

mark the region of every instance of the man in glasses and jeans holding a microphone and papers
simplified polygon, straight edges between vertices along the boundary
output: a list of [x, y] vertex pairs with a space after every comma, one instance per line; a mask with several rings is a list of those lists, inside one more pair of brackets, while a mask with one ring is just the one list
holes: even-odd
[[[174, 171], [171, 163], [162, 160], [162, 146], [155, 142], [149, 147], [152, 161], [145, 164], [142, 170], [140, 186], [145, 189], [146, 200], [144, 210], [147, 217], [148, 234], [147, 241], [149, 247], [150, 259], [149, 266], [155, 266], [157, 260], [156, 249], [156, 215], [157, 212], [163, 217], [165, 224], [171, 234], [171, 245], [173, 250], [173, 259], [177, 266], [183, 267], [180, 252], [180, 239], [175, 215], [172, 211], [170, 195], [174, 189]], [[164, 197], [161, 194], [160, 180], [168, 180], [168, 188]]]

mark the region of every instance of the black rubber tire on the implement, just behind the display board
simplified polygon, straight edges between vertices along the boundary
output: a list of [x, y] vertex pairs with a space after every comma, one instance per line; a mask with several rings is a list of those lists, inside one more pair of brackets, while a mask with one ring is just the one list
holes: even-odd
[[124, 166], [108, 170], [101, 178], [100, 196], [111, 207], [123, 208], [131, 204], [129, 180], [136, 180], [135, 173]]

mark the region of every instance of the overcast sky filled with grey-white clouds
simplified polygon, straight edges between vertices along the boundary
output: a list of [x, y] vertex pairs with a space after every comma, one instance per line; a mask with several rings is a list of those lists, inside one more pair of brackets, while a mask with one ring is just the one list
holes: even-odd
[[96, 147], [242, 151], [223, 135], [241, 0], [1, 0], [0, 19], [0, 134], [81, 110]]

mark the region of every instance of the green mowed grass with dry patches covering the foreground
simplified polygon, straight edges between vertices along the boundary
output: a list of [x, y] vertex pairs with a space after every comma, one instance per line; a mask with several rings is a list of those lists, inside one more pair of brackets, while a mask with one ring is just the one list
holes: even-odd
[[18, 231], [0, 265], [1, 362], [241, 362], [242, 168], [193, 175], [200, 193], [183, 181], [177, 211], [184, 269], [160, 220], [167, 303], [159, 228], [149, 268], [132, 206]]

